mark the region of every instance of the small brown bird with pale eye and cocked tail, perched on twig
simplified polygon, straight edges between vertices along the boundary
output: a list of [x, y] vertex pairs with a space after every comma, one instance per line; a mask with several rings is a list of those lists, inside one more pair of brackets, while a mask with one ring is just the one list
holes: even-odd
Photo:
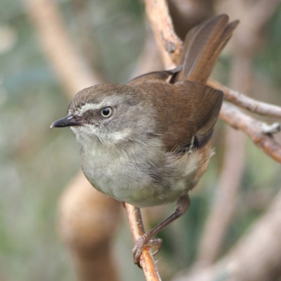
[[51, 125], [70, 126], [81, 168], [100, 192], [138, 207], [176, 202], [168, 218], [136, 241], [135, 263], [152, 237], [188, 209], [188, 192], [209, 164], [223, 92], [206, 82], [238, 24], [228, 20], [219, 15], [190, 30], [176, 69], [84, 89], [67, 117]]

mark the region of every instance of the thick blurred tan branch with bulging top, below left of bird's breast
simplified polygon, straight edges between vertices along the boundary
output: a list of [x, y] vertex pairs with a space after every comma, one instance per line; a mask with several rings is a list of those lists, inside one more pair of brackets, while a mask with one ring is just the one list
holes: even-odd
[[82, 173], [60, 197], [60, 236], [70, 249], [79, 280], [119, 280], [110, 247], [119, 224], [119, 205], [96, 191]]

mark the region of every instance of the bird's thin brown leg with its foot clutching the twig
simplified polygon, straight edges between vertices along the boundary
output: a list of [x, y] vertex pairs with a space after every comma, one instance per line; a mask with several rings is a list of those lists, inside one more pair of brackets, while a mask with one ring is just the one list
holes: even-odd
[[138, 237], [135, 242], [135, 247], [133, 247], [133, 262], [135, 264], [139, 265], [141, 252], [145, 246], [156, 247], [156, 252], [154, 254], [158, 253], [159, 249], [161, 248], [162, 240], [152, 239], [152, 237], [159, 233], [160, 230], [168, 226], [171, 222], [182, 216], [185, 211], [188, 210], [188, 207], [190, 207], [190, 199], [188, 195], [180, 197], [176, 202], [176, 208], [174, 212], [170, 216], [164, 219], [162, 223], [159, 223], [158, 226], [155, 226], [155, 228], [152, 228], [152, 230], [148, 231], [148, 233]]

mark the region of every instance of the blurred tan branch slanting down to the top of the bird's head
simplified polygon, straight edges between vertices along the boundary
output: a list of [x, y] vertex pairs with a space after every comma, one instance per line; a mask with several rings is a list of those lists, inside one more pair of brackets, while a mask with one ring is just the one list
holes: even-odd
[[77, 91], [100, 83], [99, 75], [88, 67], [74, 48], [55, 3], [49, 0], [25, 1], [38, 29], [41, 46], [58, 73], [67, 95], [72, 98]]

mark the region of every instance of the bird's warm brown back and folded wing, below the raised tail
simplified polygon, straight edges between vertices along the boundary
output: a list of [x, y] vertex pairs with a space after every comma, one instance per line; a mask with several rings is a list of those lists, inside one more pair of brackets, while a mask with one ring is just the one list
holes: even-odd
[[223, 92], [191, 81], [176, 84], [150, 81], [136, 87], [150, 97], [155, 136], [161, 136], [167, 151], [184, 151], [195, 140], [197, 147], [206, 138], [209, 141]]

